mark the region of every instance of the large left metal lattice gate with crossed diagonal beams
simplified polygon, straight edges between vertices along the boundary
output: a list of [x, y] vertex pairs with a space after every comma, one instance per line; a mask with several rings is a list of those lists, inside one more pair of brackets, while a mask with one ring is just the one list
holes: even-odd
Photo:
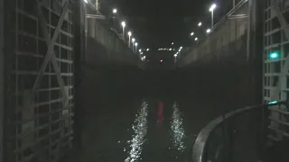
[[72, 2], [0, 2], [0, 9], [5, 6], [5, 19], [0, 19], [0, 25], [5, 25], [4, 55], [0, 51], [5, 65], [1, 62], [1, 79], [5, 74], [3, 161], [59, 161], [73, 139]]

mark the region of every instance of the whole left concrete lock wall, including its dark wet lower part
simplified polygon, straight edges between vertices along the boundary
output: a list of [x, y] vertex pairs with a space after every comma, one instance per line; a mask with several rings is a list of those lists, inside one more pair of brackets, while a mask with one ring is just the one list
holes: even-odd
[[[95, 14], [88, 7], [87, 14]], [[82, 58], [80, 104], [85, 116], [104, 105], [136, 94], [140, 86], [140, 59], [107, 20], [86, 19], [86, 46]]]

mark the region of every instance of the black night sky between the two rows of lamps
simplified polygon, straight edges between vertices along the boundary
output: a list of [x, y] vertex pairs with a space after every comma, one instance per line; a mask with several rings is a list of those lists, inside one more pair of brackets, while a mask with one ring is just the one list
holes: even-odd
[[[228, 12], [232, 0], [103, 0], [124, 15], [141, 47], [190, 46], [190, 33], [210, 28], [210, 4], [218, 4], [215, 20]], [[203, 22], [202, 28], [197, 23]]]

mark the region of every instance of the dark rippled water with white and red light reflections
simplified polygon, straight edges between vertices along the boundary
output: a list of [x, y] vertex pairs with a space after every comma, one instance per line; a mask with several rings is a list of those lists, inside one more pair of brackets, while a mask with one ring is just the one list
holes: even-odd
[[196, 135], [216, 116], [212, 105], [188, 98], [126, 99], [104, 107], [85, 119], [79, 161], [190, 161]]

